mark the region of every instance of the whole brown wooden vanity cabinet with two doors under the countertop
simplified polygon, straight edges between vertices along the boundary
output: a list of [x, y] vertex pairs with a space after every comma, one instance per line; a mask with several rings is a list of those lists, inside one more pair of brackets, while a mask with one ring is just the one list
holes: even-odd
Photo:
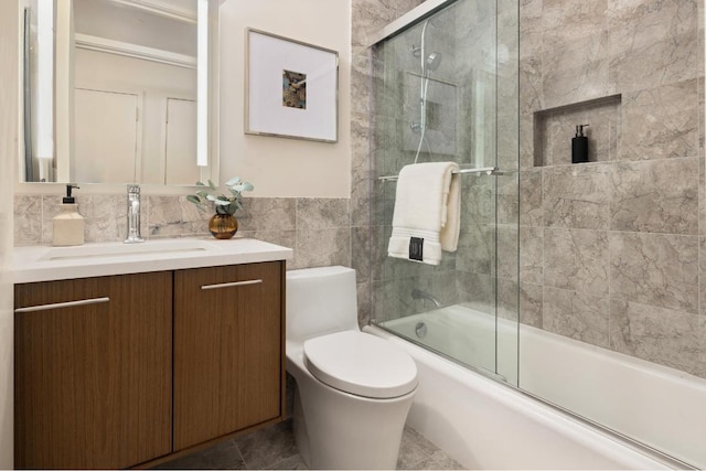
[[15, 285], [15, 468], [143, 465], [281, 420], [284, 276], [276, 260]]

